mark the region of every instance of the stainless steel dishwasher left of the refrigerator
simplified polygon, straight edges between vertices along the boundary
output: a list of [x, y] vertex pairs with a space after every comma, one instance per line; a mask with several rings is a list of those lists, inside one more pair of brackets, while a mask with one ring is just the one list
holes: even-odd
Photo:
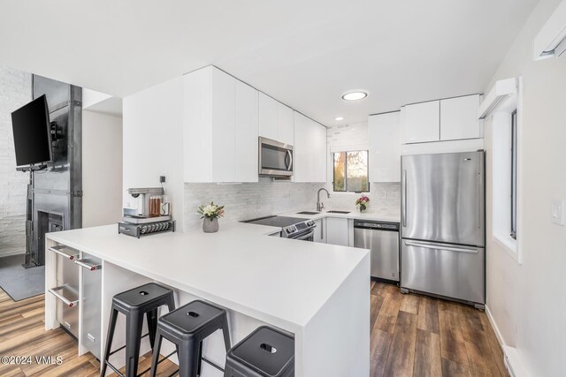
[[371, 277], [399, 282], [399, 223], [354, 221], [354, 246], [370, 249]]

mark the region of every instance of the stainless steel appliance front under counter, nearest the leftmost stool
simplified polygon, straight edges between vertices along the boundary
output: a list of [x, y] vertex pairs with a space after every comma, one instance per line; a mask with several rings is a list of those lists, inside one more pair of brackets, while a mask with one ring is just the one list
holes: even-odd
[[86, 253], [83, 253], [82, 258], [78, 262], [82, 274], [82, 343], [100, 359], [102, 261]]

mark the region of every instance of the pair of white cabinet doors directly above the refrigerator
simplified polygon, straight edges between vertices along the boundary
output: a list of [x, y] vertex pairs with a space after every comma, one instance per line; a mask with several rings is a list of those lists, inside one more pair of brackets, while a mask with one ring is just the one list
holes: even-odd
[[405, 106], [403, 144], [482, 138], [479, 94]]

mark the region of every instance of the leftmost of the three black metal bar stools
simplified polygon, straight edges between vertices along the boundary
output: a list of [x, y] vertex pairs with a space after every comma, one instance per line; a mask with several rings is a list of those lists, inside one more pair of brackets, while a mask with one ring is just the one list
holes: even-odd
[[[100, 373], [102, 377], [106, 373], [106, 366], [110, 366], [114, 372], [124, 376], [109, 362], [111, 355], [124, 348], [126, 348], [126, 377], [137, 375], [140, 343], [143, 337], [149, 336], [149, 344], [151, 344], [151, 349], [153, 349], [157, 331], [157, 309], [162, 305], [167, 305], [171, 312], [175, 309], [175, 299], [172, 290], [157, 283], [147, 283], [132, 290], [126, 290], [112, 298], [108, 337], [106, 338], [103, 368]], [[126, 345], [118, 350], [111, 351], [118, 313], [126, 315]], [[148, 320], [148, 334], [142, 336], [144, 314]], [[148, 371], [146, 370], [142, 374], [146, 372]]]

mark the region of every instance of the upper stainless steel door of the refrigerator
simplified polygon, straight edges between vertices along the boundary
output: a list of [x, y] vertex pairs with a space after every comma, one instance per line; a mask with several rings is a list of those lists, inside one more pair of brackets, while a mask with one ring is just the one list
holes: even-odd
[[483, 151], [402, 156], [402, 238], [485, 245]]

